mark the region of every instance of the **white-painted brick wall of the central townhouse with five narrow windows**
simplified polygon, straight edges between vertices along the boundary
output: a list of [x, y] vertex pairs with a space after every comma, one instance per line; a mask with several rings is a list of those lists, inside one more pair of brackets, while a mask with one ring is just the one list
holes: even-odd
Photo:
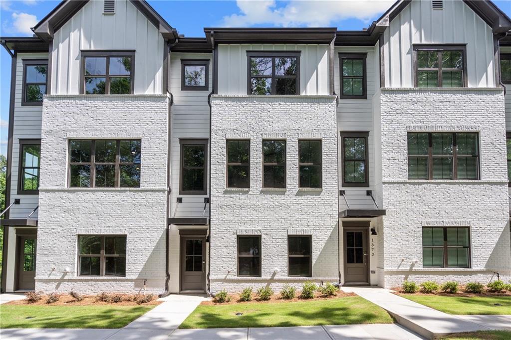
[[[313, 279], [338, 278], [338, 186], [334, 96], [212, 96], [211, 289], [239, 290], [287, 276], [287, 236], [312, 234]], [[225, 189], [226, 138], [250, 139], [250, 190]], [[262, 190], [262, 140], [287, 140], [287, 190]], [[323, 188], [298, 189], [298, 139], [322, 139]], [[237, 234], [262, 236], [262, 277], [237, 277]], [[293, 229], [293, 230], [291, 230]], [[306, 232], [307, 233], [307, 232]], [[274, 270], [278, 269], [278, 273]], [[229, 273], [230, 271], [230, 273]], [[291, 279], [291, 281], [289, 280]], [[309, 278], [310, 279], [310, 278]]]

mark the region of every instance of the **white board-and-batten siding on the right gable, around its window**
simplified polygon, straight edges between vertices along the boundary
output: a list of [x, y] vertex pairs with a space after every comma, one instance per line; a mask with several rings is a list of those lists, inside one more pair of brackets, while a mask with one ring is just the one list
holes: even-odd
[[492, 29], [462, 1], [412, 1], [384, 33], [385, 87], [413, 87], [413, 44], [467, 44], [469, 87], [494, 87]]

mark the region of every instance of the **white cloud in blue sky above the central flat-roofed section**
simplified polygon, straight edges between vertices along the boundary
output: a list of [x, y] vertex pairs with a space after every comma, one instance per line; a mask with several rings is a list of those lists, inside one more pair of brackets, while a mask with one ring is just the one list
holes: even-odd
[[237, 0], [236, 3], [241, 13], [224, 16], [224, 26], [326, 27], [347, 18], [368, 22], [386, 11], [394, 0], [291, 0], [283, 7], [277, 7], [274, 0]]

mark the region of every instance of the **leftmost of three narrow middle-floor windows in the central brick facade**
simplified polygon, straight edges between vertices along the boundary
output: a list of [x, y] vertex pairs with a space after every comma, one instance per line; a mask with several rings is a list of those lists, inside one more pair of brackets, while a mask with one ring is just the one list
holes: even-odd
[[250, 187], [250, 140], [227, 140], [227, 187]]

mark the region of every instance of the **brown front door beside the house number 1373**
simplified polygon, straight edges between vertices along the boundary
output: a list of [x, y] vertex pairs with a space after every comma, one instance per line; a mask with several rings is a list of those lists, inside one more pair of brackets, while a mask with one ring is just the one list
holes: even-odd
[[367, 229], [344, 228], [344, 283], [368, 284]]

